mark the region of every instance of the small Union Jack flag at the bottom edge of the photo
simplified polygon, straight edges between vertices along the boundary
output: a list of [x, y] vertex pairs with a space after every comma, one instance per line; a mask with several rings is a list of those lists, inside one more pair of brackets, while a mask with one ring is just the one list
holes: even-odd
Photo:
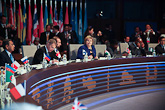
[[87, 110], [87, 107], [80, 103], [78, 101], [78, 98], [76, 97], [75, 100], [74, 100], [74, 105], [72, 106], [72, 110]]

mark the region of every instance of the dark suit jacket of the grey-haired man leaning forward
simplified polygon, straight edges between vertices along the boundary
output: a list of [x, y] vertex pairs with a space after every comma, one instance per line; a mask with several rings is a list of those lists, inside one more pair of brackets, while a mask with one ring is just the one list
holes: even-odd
[[[43, 61], [43, 54], [46, 53], [45, 46], [39, 48], [33, 58], [33, 64], [40, 64]], [[52, 51], [49, 53], [49, 56], [51, 57], [51, 60], [58, 59], [56, 56], [55, 51]]]

